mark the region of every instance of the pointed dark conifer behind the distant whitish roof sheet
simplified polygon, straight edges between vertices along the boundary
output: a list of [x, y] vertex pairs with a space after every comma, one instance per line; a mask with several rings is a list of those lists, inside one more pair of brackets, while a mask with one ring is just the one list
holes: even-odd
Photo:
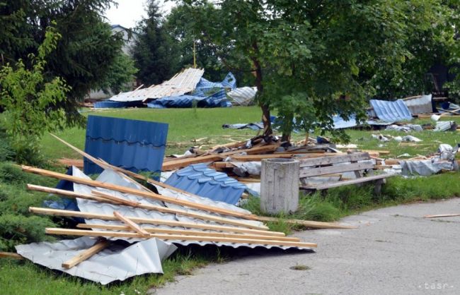
[[162, 83], [180, 70], [178, 46], [163, 28], [164, 19], [156, 0], [151, 0], [137, 31], [132, 49], [134, 65], [139, 68], [137, 78], [144, 85]]

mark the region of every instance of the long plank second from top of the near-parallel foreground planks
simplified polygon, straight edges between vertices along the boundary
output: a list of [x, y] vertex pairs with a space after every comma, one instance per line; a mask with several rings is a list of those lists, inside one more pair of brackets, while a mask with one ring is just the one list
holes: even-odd
[[[237, 227], [248, 227], [248, 228], [254, 228], [254, 229], [266, 229], [267, 228], [267, 227], [258, 227], [258, 226], [254, 226], [253, 224], [249, 224], [248, 222], [246, 222], [246, 219], [240, 219], [240, 220], [229, 219], [229, 218], [215, 216], [215, 215], [207, 215], [207, 214], [192, 211], [192, 210], [180, 210], [176, 208], [161, 207], [157, 205], [150, 205], [150, 204], [143, 204], [143, 203], [134, 203], [134, 205], [132, 205], [130, 204], [132, 201], [125, 202], [124, 199], [117, 198], [113, 195], [109, 195], [108, 193], [103, 193], [99, 191], [92, 191], [92, 193], [95, 193], [98, 195], [98, 196], [93, 196], [93, 195], [84, 195], [84, 194], [79, 194], [75, 192], [69, 192], [69, 191], [61, 190], [59, 188], [46, 188], [43, 186], [28, 185], [28, 189], [30, 189], [31, 191], [45, 191], [47, 193], [56, 193], [58, 195], [65, 195], [70, 198], [84, 198], [88, 200], [97, 200], [98, 202], [101, 202], [101, 203], [127, 205], [127, 206], [138, 207], [138, 208], [142, 208], [146, 210], [153, 210], [153, 211], [158, 211], [158, 212], [163, 212], [163, 213], [171, 213], [174, 215], [176, 214], [185, 215], [188, 217], [203, 219], [206, 221], [214, 221], [214, 222], [219, 222], [219, 223], [224, 223], [224, 224], [231, 224]], [[120, 201], [117, 201], [117, 200], [120, 200]]]

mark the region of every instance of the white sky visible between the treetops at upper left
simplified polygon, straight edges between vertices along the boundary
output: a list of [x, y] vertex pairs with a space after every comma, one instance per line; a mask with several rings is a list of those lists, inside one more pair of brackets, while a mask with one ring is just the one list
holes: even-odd
[[[118, 6], [110, 7], [105, 11], [110, 25], [122, 25], [125, 28], [134, 28], [139, 20], [146, 16], [145, 4], [147, 0], [117, 0]], [[163, 11], [168, 13], [171, 7], [176, 6], [174, 1], [159, 0]]]

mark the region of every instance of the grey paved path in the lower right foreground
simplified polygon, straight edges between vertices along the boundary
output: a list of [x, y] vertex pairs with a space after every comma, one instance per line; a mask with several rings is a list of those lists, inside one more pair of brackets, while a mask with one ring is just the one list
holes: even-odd
[[422, 218], [442, 213], [460, 213], [460, 199], [350, 216], [359, 229], [295, 234], [318, 243], [314, 253], [252, 253], [156, 294], [460, 294], [460, 217]]

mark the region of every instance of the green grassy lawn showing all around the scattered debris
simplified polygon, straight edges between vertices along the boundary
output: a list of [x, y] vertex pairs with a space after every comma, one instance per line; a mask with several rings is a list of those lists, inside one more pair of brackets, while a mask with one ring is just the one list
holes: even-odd
[[[98, 116], [115, 116], [126, 119], [139, 119], [146, 121], [159, 121], [169, 124], [168, 148], [166, 153], [183, 153], [192, 145], [215, 145], [217, 143], [229, 143], [232, 140], [243, 140], [255, 136], [257, 131], [248, 129], [234, 130], [223, 129], [222, 124], [249, 123], [260, 121], [260, 109], [258, 107], [232, 107], [229, 109], [111, 109], [91, 111], [84, 109], [85, 116], [88, 114]], [[443, 120], [449, 120], [448, 117]], [[460, 124], [460, 119], [456, 119]], [[429, 121], [414, 121], [412, 123], [425, 124]], [[69, 128], [57, 133], [57, 136], [67, 140], [76, 147], [84, 149], [85, 130]], [[439, 143], [454, 145], [460, 141], [459, 132], [435, 133], [432, 131], [413, 132], [410, 135], [422, 139], [418, 144], [381, 143], [372, 138], [374, 134], [389, 134], [392, 136], [404, 136], [406, 133], [395, 131], [347, 131], [351, 142], [359, 148], [366, 150], [389, 150], [394, 157], [408, 153], [412, 157], [427, 155], [435, 152]], [[314, 136], [314, 135], [311, 135]], [[304, 134], [293, 136], [294, 140], [304, 139]], [[197, 140], [197, 142], [195, 142]], [[48, 159], [59, 157], [75, 157], [74, 152], [64, 145], [57, 143], [54, 138], [47, 135], [42, 139], [42, 153]], [[0, 165], [1, 166], [1, 165]], [[2, 171], [7, 171], [2, 172]], [[16, 210], [19, 214], [27, 215], [28, 205], [38, 205], [47, 197], [40, 193], [27, 193], [23, 186], [29, 176], [21, 176], [21, 172], [10, 168], [0, 167], [0, 190], [8, 196], [9, 203], [2, 203], [0, 210]], [[13, 181], [13, 179], [21, 179]], [[34, 176], [35, 177], [35, 176]], [[370, 210], [376, 207], [396, 205], [400, 203], [412, 203], [417, 201], [438, 200], [460, 196], [460, 173], [444, 173], [424, 178], [403, 179], [393, 177], [384, 186], [382, 195], [376, 198], [372, 194], [372, 186], [347, 186], [330, 189], [327, 195], [314, 194], [301, 196], [300, 209], [294, 214], [294, 218], [314, 219], [321, 221], [333, 221], [346, 215]], [[35, 182], [38, 181], [34, 179]], [[47, 181], [47, 180], [43, 180]], [[27, 195], [25, 195], [27, 193]], [[15, 197], [11, 197], [15, 195]], [[23, 195], [23, 198], [20, 196]], [[16, 198], [17, 197], [17, 198]], [[0, 201], [2, 194], [0, 193]], [[25, 198], [30, 201], [23, 202]], [[260, 213], [257, 198], [250, 198], [246, 207], [254, 213]], [[33, 222], [33, 220], [31, 221]], [[48, 222], [48, 221], [46, 221]], [[49, 222], [59, 222], [50, 219]], [[269, 224], [278, 231], [287, 233], [298, 229], [284, 222]], [[1, 230], [1, 224], [0, 224]], [[1, 242], [1, 241], [0, 241]], [[1, 244], [0, 244], [1, 246]], [[320, 245], [321, 247], [321, 245]], [[321, 248], [320, 248], [321, 249]], [[188, 275], [195, 267], [201, 267], [210, 262], [222, 261], [222, 253], [217, 248], [199, 250], [194, 248], [188, 252], [182, 249], [163, 262], [164, 275], [143, 275], [128, 279], [126, 282], [110, 284], [101, 287], [98, 284], [78, 279], [59, 272], [53, 272], [33, 265], [29, 262], [18, 262], [8, 259], [0, 259], [0, 294], [144, 294], [151, 287], [161, 287], [165, 282], [171, 282], [178, 274]], [[65, 291], [63, 291], [65, 289]]]

